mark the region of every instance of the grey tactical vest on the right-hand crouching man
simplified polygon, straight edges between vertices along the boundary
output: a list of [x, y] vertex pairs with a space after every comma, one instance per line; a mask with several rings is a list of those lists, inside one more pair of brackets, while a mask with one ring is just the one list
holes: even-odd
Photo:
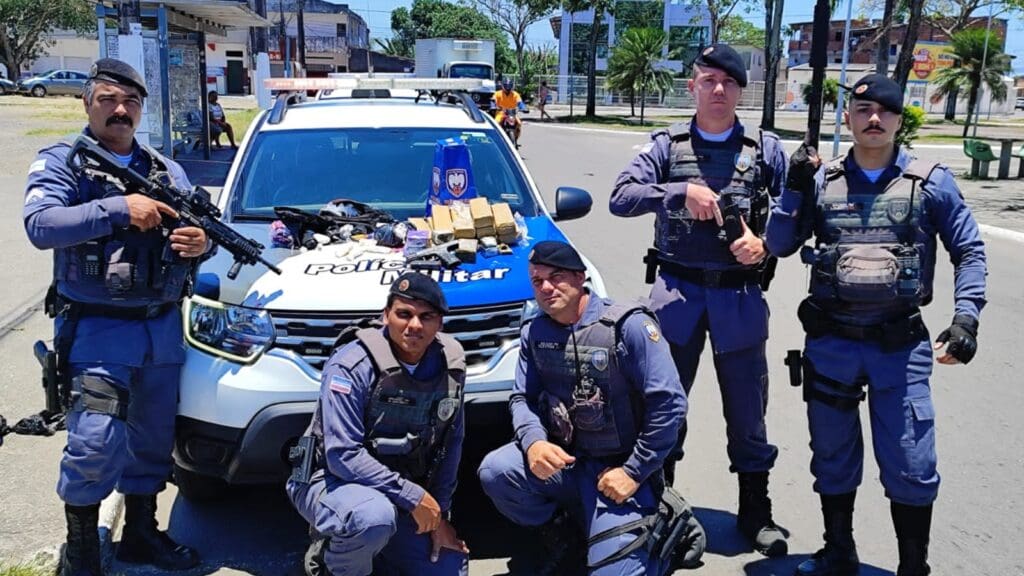
[[[530, 352], [549, 399], [549, 405], [542, 407], [542, 418], [549, 430], [558, 429], [550, 403], [567, 408], [572, 438], [566, 447], [577, 455], [622, 457], [625, 461], [636, 444], [643, 400], [626, 378], [615, 355], [622, 324], [636, 312], [646, 313], [636, 305], [611, 304], [597, 322], [575, 331], [575, 337], [570, 335], [564, 343], [530, 339]], [[553, 321], [542, 317], [535, 322]]]

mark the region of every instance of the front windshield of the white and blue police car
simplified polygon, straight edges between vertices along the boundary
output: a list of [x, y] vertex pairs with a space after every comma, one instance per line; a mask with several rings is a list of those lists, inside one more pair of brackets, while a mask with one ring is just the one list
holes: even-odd
[[438, 139], [469, 148], [479, 196], [536, 216], [537, 204], [508, 146], [494, 130], [332, 128], [266, 131], [246, 154], [230, 210], [275, 219], [274, 206], [316, 211], [347, 198], [391, 213], [423, 216]]

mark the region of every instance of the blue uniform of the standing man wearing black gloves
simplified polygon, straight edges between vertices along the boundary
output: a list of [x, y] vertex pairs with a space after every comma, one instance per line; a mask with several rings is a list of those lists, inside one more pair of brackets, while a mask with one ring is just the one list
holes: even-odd
[[[931, 300], [937, 237], [955, 269], [955, 314], [978, 319], [986, 274], [978, 225], [949, 169], [914, 161], [905, 150], [874, 182], [852, 156], [834, 160], [817, 172], [814, 189], [813, 203], [798, 192], [784, 192], [767, 235], [769, 249], [779, 256], [793, 254], [812, 235], [817, 244], [816, 250], [802, 252], [813, 268], [811, 296], [801, 305], [810, 330], [804, 386], [814, 490], [838, 495], [860, 485], [864, 448], [856, 407], [866, 385], [874, 457], [887, 497], [929, 505], [939, 488], [929, 386], [932, 344], [916, 311]], [[813, 210], [804, 208], [805, 200]], [[853, 252], [844, 243], [898, 246], [900, 279], [888, 297], [868, 297], [873, 286], [863, 283], [863, 275], [871, 272], [869, 265], [851, 262], [844, 269], [830, 260], [829, 270], [823, 263], [829, 254], [842, 258], [845, 252], [849, 258]], [[839, 252], [831, 250], [837, 245]], [[870, 255], [880, 261], [880, 253]], [[838, 269], [859, 269], [861, 276], [844, 277]], [[843, 286], [825, 280], [831, 277]], [[818, 330], [816, 323], [836, 324]], [[882, 338], [886, 334], [892, 341]]]

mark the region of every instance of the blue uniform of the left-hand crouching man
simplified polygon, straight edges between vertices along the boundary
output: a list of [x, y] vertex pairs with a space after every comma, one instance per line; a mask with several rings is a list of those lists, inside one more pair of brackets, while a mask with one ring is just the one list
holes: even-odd
[[[382, 329], [385, 332], [386, 329]], [[441, 347], [432, 344], [416, 366], [417, 380], [436, 378], [446, 370]], [[366, 419], [378, 372], [357, 341], [338, 348], [324, 367], [321, 385], [324, 462], [308, 484], [290, 482], [296, 509], [318, 534], [330, 539], [324, 560], [331, 574], [466, 574], [465, 554], [443, 549], [430, 562], [429, 534], [417, 534], [411, 512], [425, 492], [441, 511], [452, 507], [465, 437], [465, 410], [455, 414], [444, 439], [444, 459], [420, 486], [381, 463], [367, 448], [372, 422]]]

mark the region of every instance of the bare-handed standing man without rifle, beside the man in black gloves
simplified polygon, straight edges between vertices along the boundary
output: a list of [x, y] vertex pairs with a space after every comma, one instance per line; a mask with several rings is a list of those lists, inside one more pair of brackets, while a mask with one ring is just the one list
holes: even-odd
[[[746, 73], [735, 50], [706, 48], [687, 84], [694, 118], [651, 134], [620, 174], [609, 207], [618, 216], [655, 214], [655, 248], [644, 260], [654, 285], [651, 306], [687, 395], [711, 334], [730, 470], [739, 479], [737, 526], [757, 550], [781, 556], [785, 535], [773, 522], [768, 497], [778, 450], [768, 444], [765, 427], [768, 304], [759, 283], [767, 286], [774, 266], [763, 234], [771, 198], [784, 183], [785, 154], [774, 134], [749, 133], [736, 118]], [[737, 207], [741, 217], [723, 216]], [[685, 437], [684, 422], [666, 466], [670, 479]]]

